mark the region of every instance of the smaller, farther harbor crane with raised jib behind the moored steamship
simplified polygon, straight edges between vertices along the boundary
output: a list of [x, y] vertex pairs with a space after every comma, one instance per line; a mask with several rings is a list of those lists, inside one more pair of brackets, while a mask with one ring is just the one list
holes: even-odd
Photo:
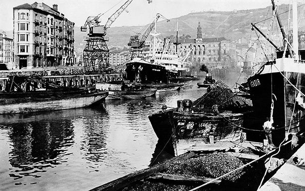
[[[142, 54], [143, 47], [145, 45], [145, 41], [146, 41], [147, 37], [149, 36], [149, 34], [152, 32], [153, 27], [155, 26], [157, 20], [160, 17], [165, 19], [167, 22], [169, 22], [169, 19], [165, 18], [160, 13], [157, 13], [155, 16], [155, 19], [152, 21], [152, 23], [148, 26], [148, 28], [145, 30], [145, 32], [143, 34], [141, 32], [139, 32], [136, 35], [130, 37], [129, 43], [127, 45], [131, 47], [131, 53], [132, 53], [131, 59], [133, 59], [135, 57], [135, 55], [138, 54], [139, 52], [141, 52], [141, 54]], [[142, 37], [140, 39], [139, 37], [141, 34], [142, 34]], [[142, 55], [142, 57], [143, 57], [143, 55]]]

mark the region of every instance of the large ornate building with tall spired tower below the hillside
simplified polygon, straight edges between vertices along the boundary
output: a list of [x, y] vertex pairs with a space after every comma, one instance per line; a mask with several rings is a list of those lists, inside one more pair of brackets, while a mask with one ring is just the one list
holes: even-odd
[[[193, 64], [226, 67], [230, 62], [236, 61], [236, 44], [224, 37], [202, 38], [200, 22], [197, 27], [197, 38], [183, 39], [179, 43], [178, 54], [182, 57], [192, 49], [186, 59]], [[170, 43], [169, 49], [173, 51], [175, 48], [176, 45]]]

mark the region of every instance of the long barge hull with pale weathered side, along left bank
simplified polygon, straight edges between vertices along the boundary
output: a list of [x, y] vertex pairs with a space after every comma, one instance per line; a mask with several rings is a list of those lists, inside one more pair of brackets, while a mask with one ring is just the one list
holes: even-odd
[[[0, 93], [0, 114], [28, 113], [87, 107], [105, 100], [107, 92], [74, 94], [36, 91], [35, 93]], [[68, 94], [68, 95], [66, 95]]]

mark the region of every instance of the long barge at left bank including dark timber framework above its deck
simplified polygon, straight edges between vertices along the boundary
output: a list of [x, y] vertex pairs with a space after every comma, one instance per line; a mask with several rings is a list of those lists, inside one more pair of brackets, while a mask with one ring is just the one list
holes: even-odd
[[11, 76], [0, 92], [0, 114], [80, 108], [105, 100], [108, 93], [95, 88], [67, 88], [37, 77]]

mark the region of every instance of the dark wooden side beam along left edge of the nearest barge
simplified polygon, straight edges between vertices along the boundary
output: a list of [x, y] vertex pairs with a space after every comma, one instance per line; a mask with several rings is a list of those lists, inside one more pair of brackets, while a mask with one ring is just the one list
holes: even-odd
[[195, 155], [196, 154], [194, 152], [184, 153], [182, 155], [174, 157], [170, 160], [167, 160], [167, 161], [160, 163], [158, 165], [155, 165], [153, 167], [137, 171], [135, 173], [126, 175], [122, 178], [119, 178], [119, 179], [116, 179], [109, 183], [106, 183], [102, 186], [96, 187], [90, 191], [118, 191], [118, 190], [123, 189], [124, 187], [130, 185], [131, 183], [134, 183], [136, 181], [147, 178], [147, 177], [153, 175], [154, 173], [157, 173], [159, 171], [162, 171], [162, 170], [168, 168], [175, 161], [186, 160]]

